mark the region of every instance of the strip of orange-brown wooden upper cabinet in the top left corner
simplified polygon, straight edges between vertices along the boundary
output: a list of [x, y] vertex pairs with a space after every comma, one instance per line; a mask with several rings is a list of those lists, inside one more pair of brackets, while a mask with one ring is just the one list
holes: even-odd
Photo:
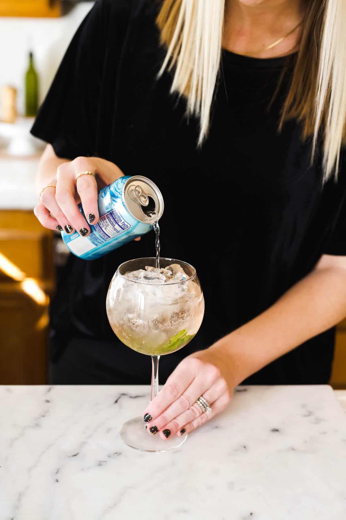
[[58, 17], [61, 0], [0, 0], [0, 16]]

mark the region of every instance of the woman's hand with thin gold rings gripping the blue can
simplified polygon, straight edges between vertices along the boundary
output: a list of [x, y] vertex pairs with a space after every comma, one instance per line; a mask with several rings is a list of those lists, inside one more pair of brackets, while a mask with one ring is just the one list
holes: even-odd
[[[97, 180], [93, 175], [82, 175], [76, 180], [81, 172], [97, 174]], [[118, 166], [96, 157], [77, 157], [73, 161], [63, 162], [50, 180], [47, 181], [49, 177], [45, 176], [41, 189], [48, 185], [53, 187], [41, 193], [34, 214], [48, 229], [64, 229], [66, 233], [76, 229], [81, 236], [86, 237], [90, 233], [90, 224], [96, 224], [99, 220], [98, 189], [122, 175]], [[88, 222], [79, 211], [79, 202], [82, 203]]]

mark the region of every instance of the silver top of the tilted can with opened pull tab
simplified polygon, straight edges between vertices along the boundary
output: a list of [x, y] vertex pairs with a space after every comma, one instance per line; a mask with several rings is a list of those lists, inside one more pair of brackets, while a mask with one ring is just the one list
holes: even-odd
[[124, 201], [129, 212], [145, 224], [154, 224], [163, 213], [161, 191], [152, 180], [134, 175], [124, 186]]

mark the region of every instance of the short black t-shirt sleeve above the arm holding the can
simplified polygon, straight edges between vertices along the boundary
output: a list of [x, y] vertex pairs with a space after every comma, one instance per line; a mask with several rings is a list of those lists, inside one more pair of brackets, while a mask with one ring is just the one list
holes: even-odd
[[58, 157], [95, 153], [106, 18], [104, 2], [98, 0], [74, 35], [31, 129]]

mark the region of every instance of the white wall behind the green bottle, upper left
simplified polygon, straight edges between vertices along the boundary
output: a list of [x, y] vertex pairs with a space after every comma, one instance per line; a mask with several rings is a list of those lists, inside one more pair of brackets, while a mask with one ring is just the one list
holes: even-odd
[[92, 5], [80, 2], [61, 18], [0, 18], [0, 87], [6, 84], [18, 89], [19, 113], [23, 113], [24, 74], [30, 48], [43, 100], [68, 43]]

